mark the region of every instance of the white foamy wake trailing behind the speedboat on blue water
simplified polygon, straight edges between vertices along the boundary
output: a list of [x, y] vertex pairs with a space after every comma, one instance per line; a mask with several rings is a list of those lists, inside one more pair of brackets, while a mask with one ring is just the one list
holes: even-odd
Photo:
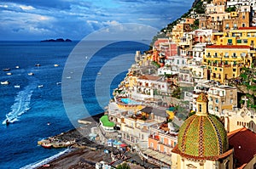
[[15, 104], [11, 106], [11, 112], [6, 115], [6, 119], [3, 121], [3, 125], [6, 125], [6, 121], [14, 123], [19, 120], [19, 116], [24, 114], [30, 109], [30, 100], [33, 93], [32, 86], [27, 86], [23, 91], [20, 91], [15, 97]]

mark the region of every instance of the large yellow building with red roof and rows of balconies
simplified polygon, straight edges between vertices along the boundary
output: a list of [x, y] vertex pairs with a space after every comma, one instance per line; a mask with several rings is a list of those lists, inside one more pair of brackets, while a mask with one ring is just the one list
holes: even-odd
[[254, 58], [254, 52], [246, 45], [211, 45], [206, 47], [203, 65], [210, 70], [210, 80], [224, 83], [240, 76], [242, 67], [251, 67]]

